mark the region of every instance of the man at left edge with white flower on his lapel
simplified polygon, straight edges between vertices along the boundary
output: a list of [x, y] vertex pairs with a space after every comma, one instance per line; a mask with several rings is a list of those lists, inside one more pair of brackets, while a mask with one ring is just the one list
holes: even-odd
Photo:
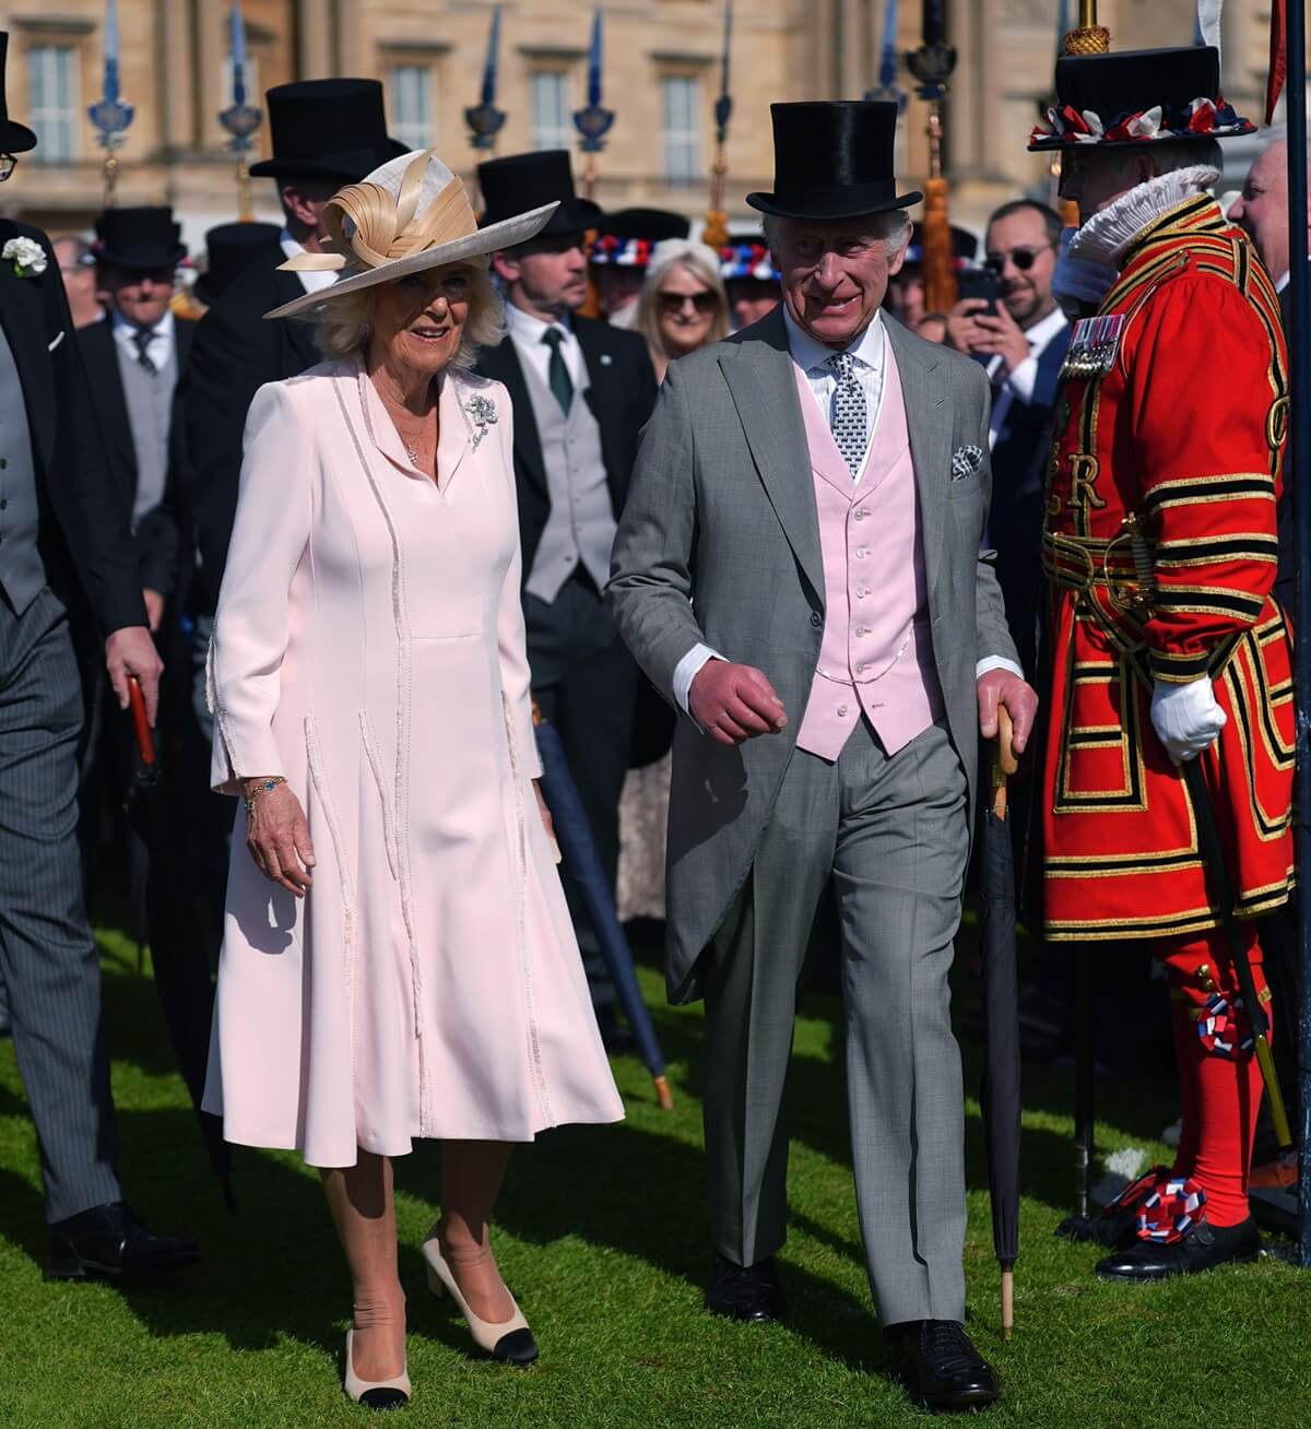
[[[0, 33], [0, 179], [36, 134], [9, 119]], [[79, 590], [80, 587], [80, 590]], [[70, 620], [89, 597], [119, 703], [160, 662], [127, 512], [104, 469], [50, 242], [0, 219], [0, 982], [36, 1122], [51, 1255], [81, 1279], [186, 1265], [123, 1203], [100, 969], [77, 852], [83, 706]]]

